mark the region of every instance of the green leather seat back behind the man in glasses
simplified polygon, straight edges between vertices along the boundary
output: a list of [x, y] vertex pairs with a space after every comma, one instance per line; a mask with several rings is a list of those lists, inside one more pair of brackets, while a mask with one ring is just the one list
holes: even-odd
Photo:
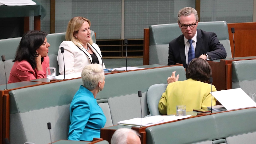
[[[220, 43], [226, 49], [227, 58], [232, 57], [225, 21], [199, 22], [197, 29], [216, 33]], [[167, 65], [169, 42], [181, 34], [178, 23], [149, 26], [149, 64]]]

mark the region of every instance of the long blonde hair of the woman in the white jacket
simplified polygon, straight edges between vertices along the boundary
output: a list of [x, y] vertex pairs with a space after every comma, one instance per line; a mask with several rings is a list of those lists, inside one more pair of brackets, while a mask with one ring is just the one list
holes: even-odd
[[[89, 23], [89, 26], [91, 26], [91, 21], [84, 17], [74, 17], [71, 20], [69, 20], [65, 40], [72, 41], [75, 45], [83, 45], [83, 43], [80, 40], [75, 38], [74, 34], [78, 33], [78, 30], [81, 28], [85, 21]], [[92, 45], [93, 40], [91, 39], [89, 43], [90, 45]]]

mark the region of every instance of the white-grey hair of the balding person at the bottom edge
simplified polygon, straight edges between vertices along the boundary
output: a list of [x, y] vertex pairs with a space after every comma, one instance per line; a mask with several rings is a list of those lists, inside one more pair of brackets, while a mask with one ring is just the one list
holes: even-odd
[[111, 144], [127, 144], [127, 136], [130, 132], [140, 137], [140, 134], [138, 134], [138, 132], [136, 132], [135, 130], [121, 128], [121, 129], [117, 129], [116, 132], [114, 132], [111, 138]]

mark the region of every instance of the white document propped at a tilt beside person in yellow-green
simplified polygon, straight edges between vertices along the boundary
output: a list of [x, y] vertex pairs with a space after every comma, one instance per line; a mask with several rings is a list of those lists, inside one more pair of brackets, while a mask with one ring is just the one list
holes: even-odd
[[241, 88], [213, 91], [212, 95], [227, 110], [256, 107], [256, 103]]

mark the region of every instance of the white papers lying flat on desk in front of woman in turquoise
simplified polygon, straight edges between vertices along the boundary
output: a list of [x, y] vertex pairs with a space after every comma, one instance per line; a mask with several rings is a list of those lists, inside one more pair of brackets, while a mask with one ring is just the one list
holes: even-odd
[[[191, 115], [185, 115], [185, 116], [175, 116], [175, 115], [155, 115], [155, 116], [149, 116], [146, 118], [142, 118], [142, 126], [151, 126], [154, 124], [160, 124], [164, 123], [167, 121], [174, 121], [182, 118], [188, 118]], [[126, 125], [126, 126], [136, 126], [140, 127], [141, 126], [141, 118], [132, 118], [129, 120], [124, 120], [124, 121], [119, 121], [117, 123], [118, 125]]]

